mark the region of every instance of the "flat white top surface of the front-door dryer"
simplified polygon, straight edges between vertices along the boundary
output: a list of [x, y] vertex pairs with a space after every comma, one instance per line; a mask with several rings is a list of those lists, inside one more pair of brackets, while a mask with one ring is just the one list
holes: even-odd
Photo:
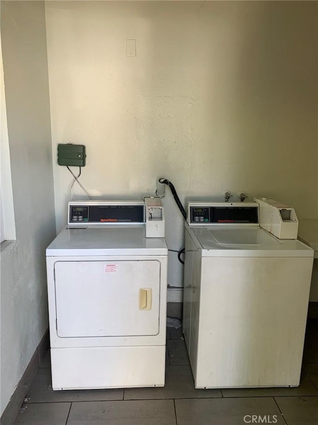
[[164, 238], [146, 238], [143, 225], [67, 226], [46, 249], [48, 257], [167, 254]]

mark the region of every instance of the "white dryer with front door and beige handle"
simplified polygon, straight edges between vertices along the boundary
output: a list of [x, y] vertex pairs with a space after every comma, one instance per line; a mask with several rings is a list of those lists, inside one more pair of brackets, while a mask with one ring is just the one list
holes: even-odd
[[163, 236], [158, 198], [69, 203], [46, 250], [54, 390], [164, 385]]

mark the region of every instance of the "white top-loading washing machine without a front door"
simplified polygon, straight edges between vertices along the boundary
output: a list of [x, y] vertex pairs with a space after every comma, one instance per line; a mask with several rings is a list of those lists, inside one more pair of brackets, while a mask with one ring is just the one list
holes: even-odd
[[196, 388], [299, 385], [313, 255], [263, 230], [256, 202], [188, 204], [183, 332]]

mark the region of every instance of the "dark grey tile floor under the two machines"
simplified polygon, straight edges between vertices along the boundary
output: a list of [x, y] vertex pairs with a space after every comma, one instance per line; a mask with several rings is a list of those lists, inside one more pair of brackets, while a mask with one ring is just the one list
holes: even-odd
[[165, 387], [52, 391], [47, 353], [25, 400], [14, 425], [244, 425], [252, 415], [317, 425], [318, 319], [308, 321], [298, 388], [195, 390], [181, 331], [167, 328]]

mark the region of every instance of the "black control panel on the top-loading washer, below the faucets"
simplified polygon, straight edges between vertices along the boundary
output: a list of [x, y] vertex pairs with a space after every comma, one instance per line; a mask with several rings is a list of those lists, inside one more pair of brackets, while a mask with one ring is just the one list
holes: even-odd
[[242, 202], [190, 202], [188, 224], [258, 226], [258, 205]]

